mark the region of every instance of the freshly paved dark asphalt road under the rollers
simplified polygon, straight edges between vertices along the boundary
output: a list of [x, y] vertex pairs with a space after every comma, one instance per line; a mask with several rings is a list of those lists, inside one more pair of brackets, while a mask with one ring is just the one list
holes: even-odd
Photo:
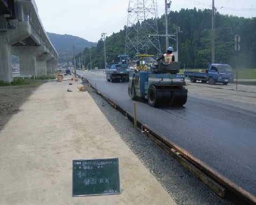
[[[108, 82], [103, 73], [79, 72], [133, 113], [128, 83]], [[234, 85], [221, 89], [224, 85], [188, 84], [184, 107], [153, 108], [136, 101], [138, 120], [256, 196], [256, 93], [232, 90]]]

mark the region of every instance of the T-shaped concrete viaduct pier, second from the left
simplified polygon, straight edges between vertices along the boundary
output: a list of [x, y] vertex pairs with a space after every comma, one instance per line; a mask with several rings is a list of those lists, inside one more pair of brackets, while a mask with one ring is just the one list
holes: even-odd
[[[39, 46], [13, 46], [12, 54], [19, 57], [20, 74], [37, 76], [36, 57], [42, 55], [46, 48]], [[40, 62], [40, 59], [39, 59]]]

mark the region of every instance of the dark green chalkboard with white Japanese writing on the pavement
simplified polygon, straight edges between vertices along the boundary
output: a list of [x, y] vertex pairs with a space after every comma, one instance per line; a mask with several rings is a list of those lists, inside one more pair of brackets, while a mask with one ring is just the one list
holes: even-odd
[[72, 196], [120, 193], [118, 158], [73, 160]]

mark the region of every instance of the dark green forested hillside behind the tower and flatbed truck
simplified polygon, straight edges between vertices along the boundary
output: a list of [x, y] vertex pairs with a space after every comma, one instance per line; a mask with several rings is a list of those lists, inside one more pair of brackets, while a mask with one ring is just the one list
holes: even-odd
[[[205, 69], [212, 60], [212, 10], [182, 9], [179, 12], [168, 14], [169, 34], [176, 33], [176, 27], [180, 27], [178, 36], [179, 62], [185, 64], [185, 68]], [[153, 19], [148, 19], [153, 20]], [[159, 34], [165, 34], [165, 16], [157, 19]], [[152, 33], [151, 33], [152, 32]], [[154, 34], [149, 31], [146, 34]], [[235, 35], [240, 35], [240, 51], [238, 52], [240, 69], [255, 68], [256, 61], [256, 18], [239, 18], [224, 16], [215, 13], [215, 63], [227, 63], [236, 68], [237, 53], [235, 51]], [[106, 38], [107, 62], [118, 60], [117, 56], [125, 52], [126, 27], [119, 33], [113, 33]], [[165, 53], [165, 37], [160, 37], [161, 51]], [[176, 41], [169, 40], [170, 46], [176, 51]], [[82, 51], [83, 64], [90, 67], [90, 54], [88, 48]], [[129, 56], [134, 56], [134, 51]], [[155, 50], [148, 54], [156, 55]], [[78, 54], [78, 60], [81, 54]], [[104, 65], [104, 47], [100, 40], [92, 48], [92, 67]]]

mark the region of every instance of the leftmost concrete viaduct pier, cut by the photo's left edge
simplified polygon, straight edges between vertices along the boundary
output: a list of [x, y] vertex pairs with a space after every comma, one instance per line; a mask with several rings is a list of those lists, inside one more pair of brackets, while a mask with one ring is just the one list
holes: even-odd
[[0, 33], [0, 80], [12, 82], [11, 45], [8, 43], [8, 33]]

